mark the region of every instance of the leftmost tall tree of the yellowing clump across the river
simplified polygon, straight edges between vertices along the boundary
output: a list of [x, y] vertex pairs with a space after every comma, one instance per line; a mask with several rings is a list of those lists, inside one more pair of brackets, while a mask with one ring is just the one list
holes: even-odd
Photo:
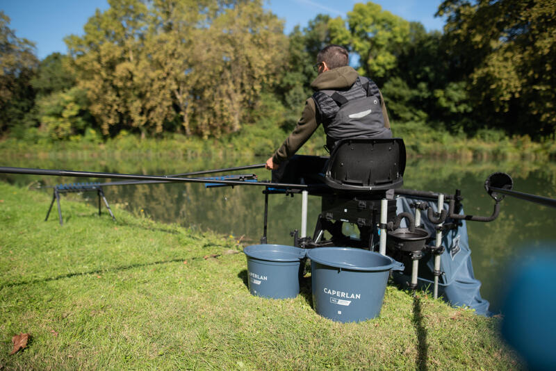
[[65, 38], [78, 86], [87, 92], [89, 110], [104, 135], [122, 128], [145, 135], [144, 74], [140, 51], [148, 29], [147, 6], [140, 0], [110, 0], [106, 12], [96, 11], [85, 35]]

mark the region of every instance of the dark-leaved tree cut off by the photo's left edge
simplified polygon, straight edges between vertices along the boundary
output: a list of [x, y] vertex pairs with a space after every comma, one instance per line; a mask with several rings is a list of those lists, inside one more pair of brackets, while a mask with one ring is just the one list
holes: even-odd
[[0, 133], [17, 126], [33, 106], [31, 79], [38, 59], [33, 42], [17, 38], [0, 11]]

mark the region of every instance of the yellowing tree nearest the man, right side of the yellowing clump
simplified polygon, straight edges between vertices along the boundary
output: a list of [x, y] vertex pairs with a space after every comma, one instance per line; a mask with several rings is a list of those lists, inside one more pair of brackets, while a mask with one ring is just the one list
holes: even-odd
[[261, 1], [237, 1], [199, 33], [190, 103], [204, 137], [238, 131], [263, 88], [277, 81], [277, 60], [286, 52], [283, 27]]

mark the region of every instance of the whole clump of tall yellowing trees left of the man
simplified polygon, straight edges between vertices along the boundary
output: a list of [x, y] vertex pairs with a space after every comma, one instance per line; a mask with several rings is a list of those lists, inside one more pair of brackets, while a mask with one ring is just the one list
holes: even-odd
[[110, 0], [66, 39], [105, 135], [120, 128], [238, 131], [276, 79], [283, 24], [261, 1]]

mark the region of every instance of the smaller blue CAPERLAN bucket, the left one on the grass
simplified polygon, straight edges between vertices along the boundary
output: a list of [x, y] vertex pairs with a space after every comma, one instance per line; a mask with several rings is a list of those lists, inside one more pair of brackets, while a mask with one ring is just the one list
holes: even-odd
[[290, 299], [300, 293], [301, 261], [306, 250], [286, 245], [251, 245], [243, 252], [252, 295]]

